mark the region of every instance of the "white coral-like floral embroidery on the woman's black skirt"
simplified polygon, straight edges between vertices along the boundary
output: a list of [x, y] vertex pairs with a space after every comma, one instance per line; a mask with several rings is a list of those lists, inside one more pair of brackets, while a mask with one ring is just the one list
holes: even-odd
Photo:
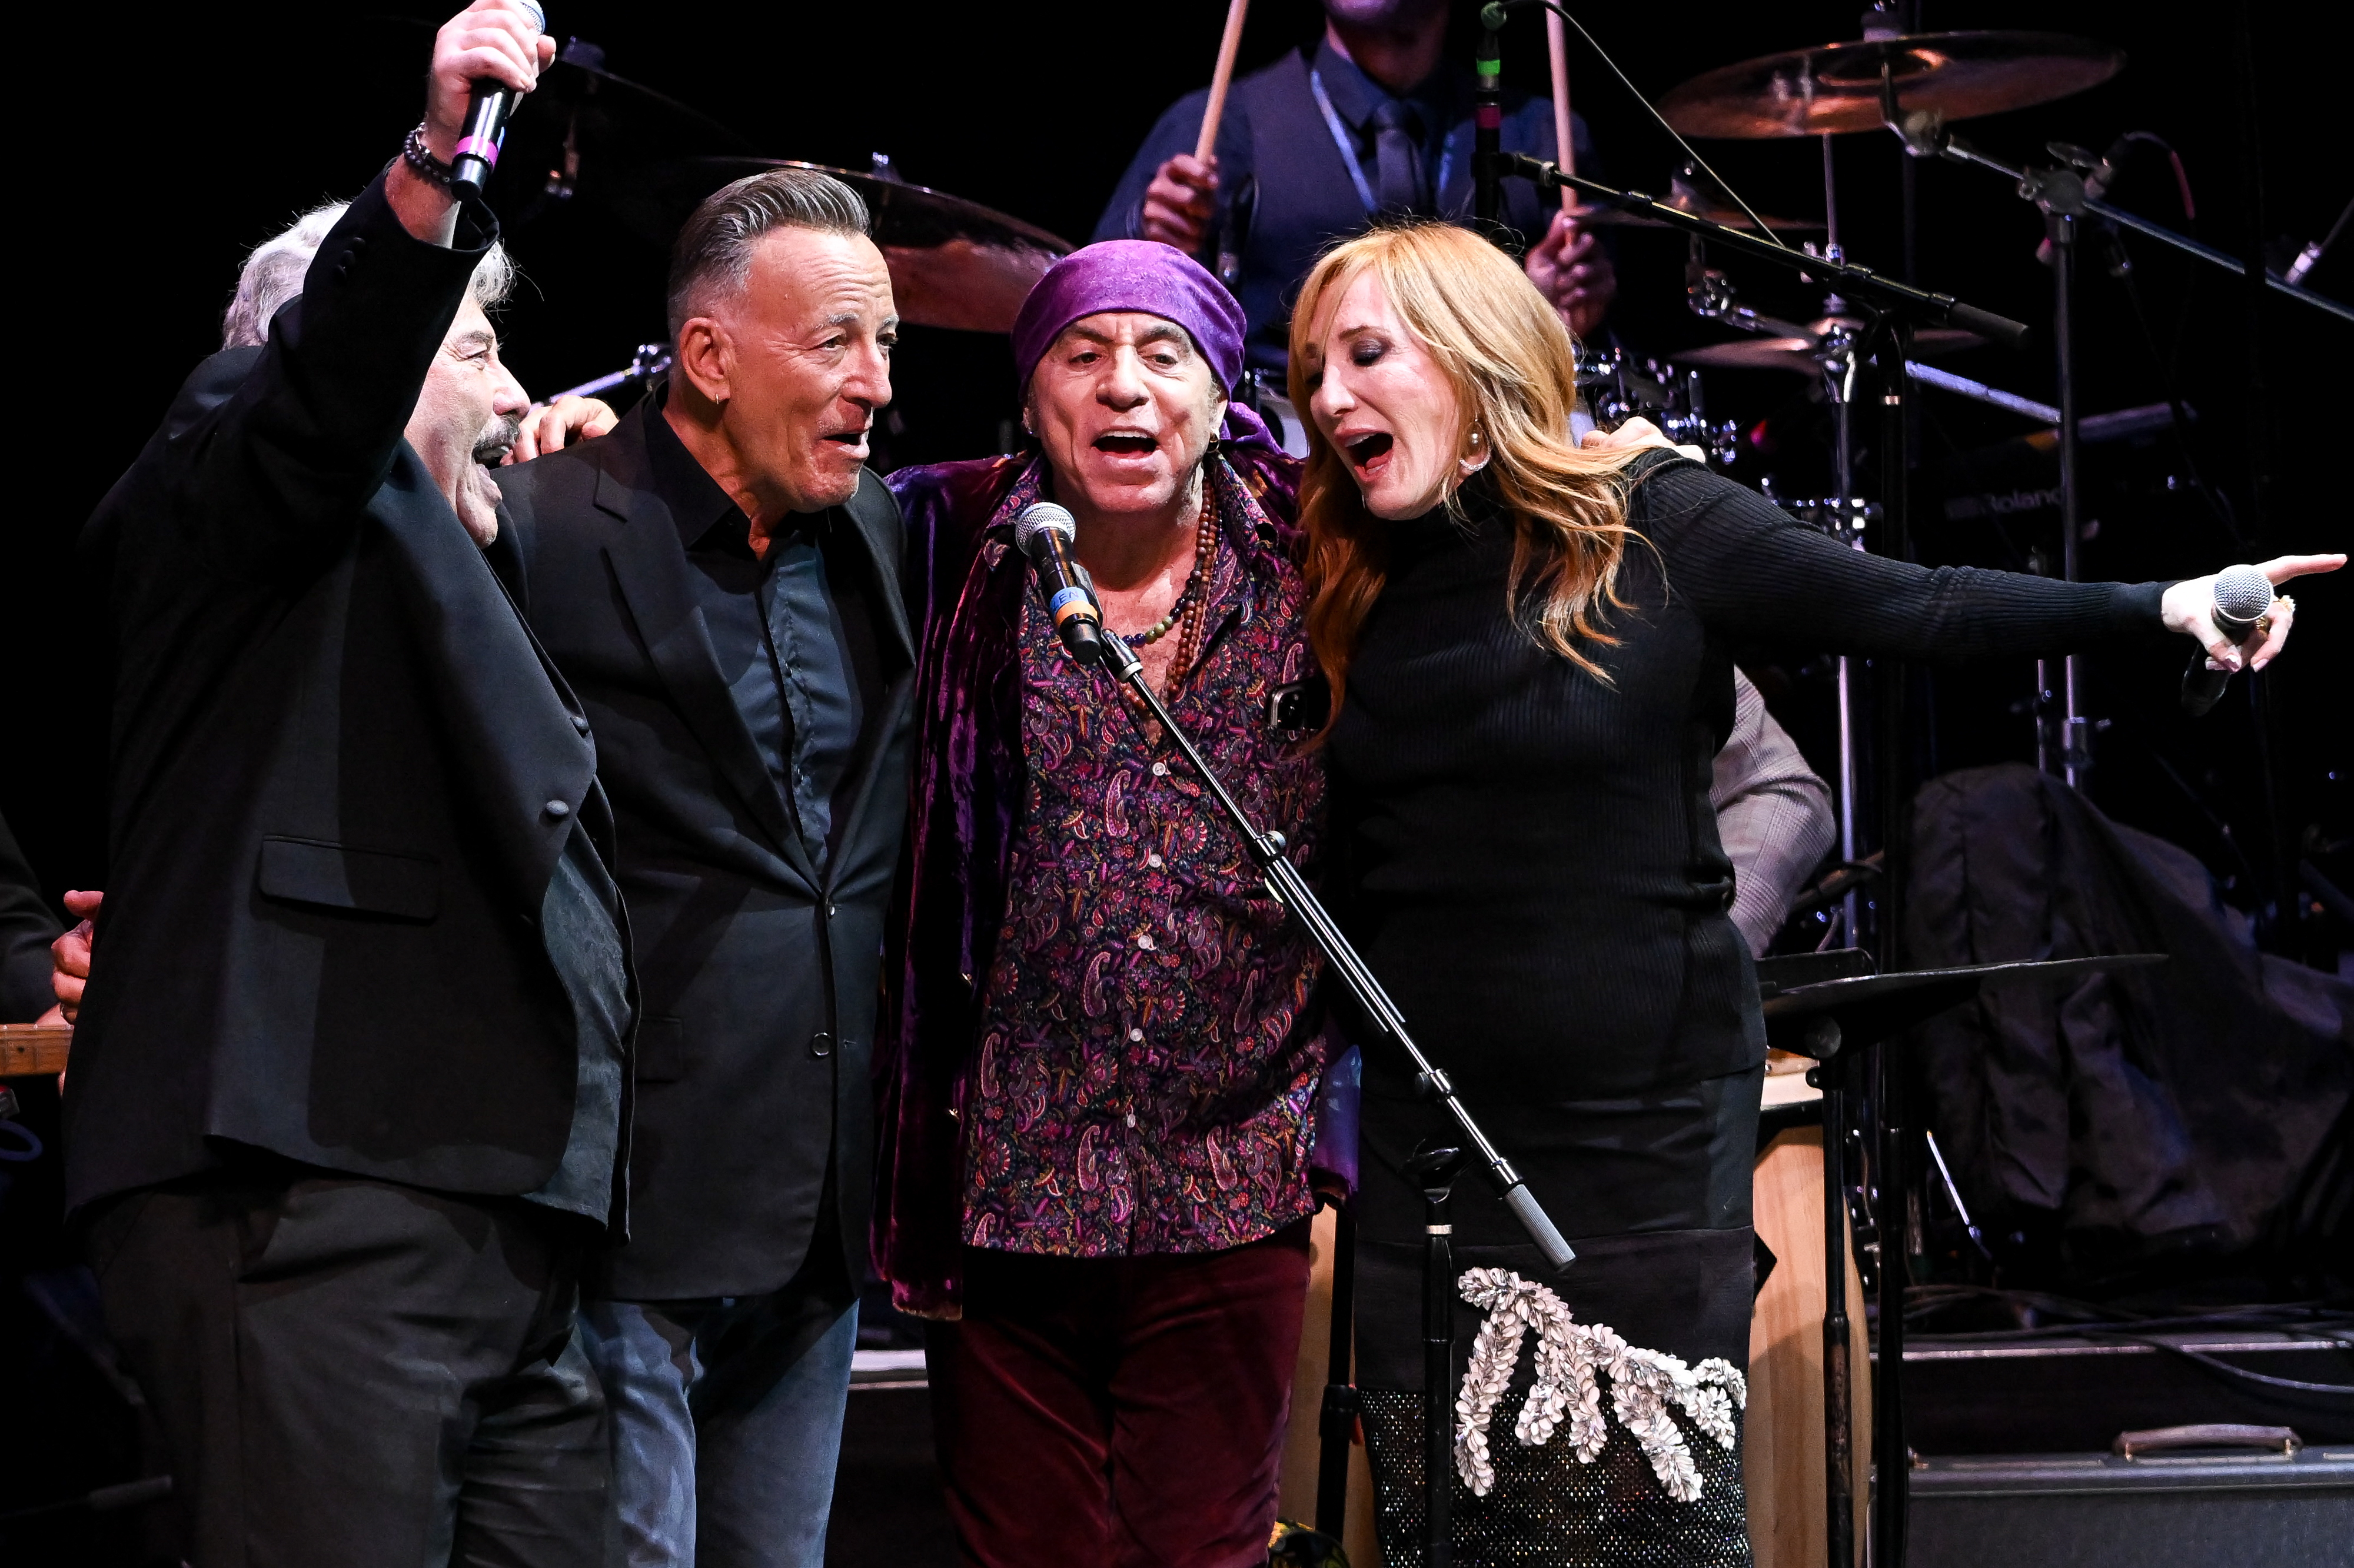
[[1610, 1380], [1610, 1415], [1643, 1448], [1667, 1495], [1676, 1502], [1700, 1500], [1700, 1471], [1693, 1469], [1693, 1453], [1683, 1446], [1669, 1406], [1730, 1450], [1737, 1439], [1733, 1413], [1749, 1403], [1749, 1380], [1740, 1368], [1723, 1356], [1688, 1368], [1678, 1356], [1627, 1344], [1605, 1323], [1577, 1323], [1558, 1295], [1511, 1269], [1467, 1269], [1459, 1288], [1467, 1302], [1488, 1314], [1471, 1340], [1471, 1366], [1455, 1396], [1455, 1474], [1476, 1497], [1495, 1488], [1488, 1417], [1511, 1387], [1521, 1340], [1535, 1328], [1537, 1382], [1521, 1406], [1514, 1436], [1542, 1448], [1568, 1420], [1577, 1460], [1598, 1460], [1610, 1441], [1596, 1377], [1603, 1375]]

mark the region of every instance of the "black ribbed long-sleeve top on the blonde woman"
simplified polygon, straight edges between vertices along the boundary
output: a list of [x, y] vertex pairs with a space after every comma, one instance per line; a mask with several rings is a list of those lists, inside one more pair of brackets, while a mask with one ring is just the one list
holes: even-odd
[[[1351, 935], [1415, 1036], [1570, 1236], [1747, 1224], [1766, 1038], [1709, 810], [1730, 643], [1848, 655], [2062, 652], [2159, 629], [2163, 584], [2064, 584], [1862, 556], [1683, 459], [1643, 459], [1594, 676], [1507, 614], [1514, 530], [1396, 527], [1330, 739]], [[1387, 1180], [1445, 1135], [1403, 1057], [1365, 1057], [1368, 1234], [1419, 1234]], [[1467, 1194], [1476, 1184], [1462, 1184]], [[1469, 1238], [1518, 1241], [1485, 1189]]]

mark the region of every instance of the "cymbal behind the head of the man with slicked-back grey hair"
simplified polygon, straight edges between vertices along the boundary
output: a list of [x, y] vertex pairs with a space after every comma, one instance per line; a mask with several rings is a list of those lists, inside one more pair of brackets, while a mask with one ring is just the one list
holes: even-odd
[[[843, 181], [873, 214], [899, 320], [918, 327], [1010, 332], [1031, 285], [1071, 242], [1017, 217], [887, 174], [833, 170], [793, 158], [678, 158], [607, 174], [607, 200], [669, 245], [697, 202], [763, 170], [817, 170]], [[614, 193], [612, 184], [626, 184]]]

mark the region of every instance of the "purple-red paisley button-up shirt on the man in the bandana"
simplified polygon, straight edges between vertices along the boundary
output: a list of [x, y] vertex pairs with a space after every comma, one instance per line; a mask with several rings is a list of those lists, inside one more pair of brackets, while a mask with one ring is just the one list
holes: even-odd
[[[1212, 473], [1203, 657], [1168, 697], [1306, 864], [1323, 760], [1266, 711], [1314, 671], [1306, 589], [1257, 501]], [[1033, 499], [1026, 480], [1000, 511]], [[1236, 530], [1252, 530], [1245, 549]], [[1314, 946], [1137, 697], [1076, 664], [1033, 593], [1019, 647], [1029, 793], [965, 1083], [965, 1241], [1125, 1257], [1269, 1236], [1314, 1210]]]

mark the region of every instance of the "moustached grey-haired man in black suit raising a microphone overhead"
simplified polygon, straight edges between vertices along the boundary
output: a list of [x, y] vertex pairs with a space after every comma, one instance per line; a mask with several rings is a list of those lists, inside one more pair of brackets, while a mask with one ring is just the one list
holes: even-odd
[[[525, 405], [447, 188], [471, 87], [551, 45], [478, 0], [426, 118], [268, 341], [191, 374], [89, 523], [113, 881], [68, 1201], [188, 1559], [581, 1563], [572, 1335], [626, 1147], [629, 932], [579, 704], [497, 567]], [[487, 546], [487, 549], [485, 549]]]

